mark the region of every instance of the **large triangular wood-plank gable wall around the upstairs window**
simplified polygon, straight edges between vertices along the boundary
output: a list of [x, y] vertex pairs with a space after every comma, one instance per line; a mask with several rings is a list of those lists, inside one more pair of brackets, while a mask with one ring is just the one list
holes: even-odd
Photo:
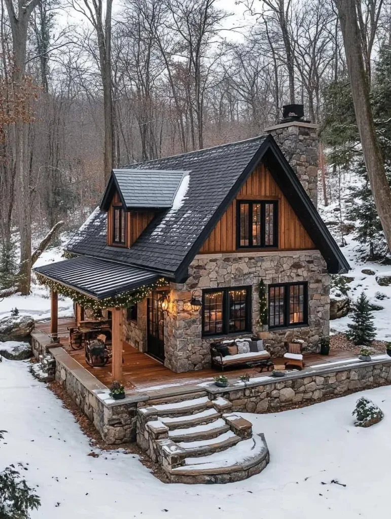
[[[278, 247], [267, 249], [237, 248], [237, 204], [238, 200], [277, 201]], [[308, 250], [316, 249], [313, 240], [301, 224], [294, 208], [282, 194], [271, 173], [263, 164], [257, 166], [248, 177], [240, 192], [227, 208], [219, 222], [212, 229], [199, 250], [199, 254], [252, 252], [264, 250]]]

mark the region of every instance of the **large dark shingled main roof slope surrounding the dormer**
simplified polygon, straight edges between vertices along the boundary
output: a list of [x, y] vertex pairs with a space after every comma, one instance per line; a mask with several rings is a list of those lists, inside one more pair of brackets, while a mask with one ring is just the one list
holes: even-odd
[[155, 216], [130, 249], [106, 245], [106, 213], [97, 209], [70, 240], [67, 250], [173, 276], [265, 139], [261, 136], [131, 165], [140, 170], [190, 171], [182, 206]]

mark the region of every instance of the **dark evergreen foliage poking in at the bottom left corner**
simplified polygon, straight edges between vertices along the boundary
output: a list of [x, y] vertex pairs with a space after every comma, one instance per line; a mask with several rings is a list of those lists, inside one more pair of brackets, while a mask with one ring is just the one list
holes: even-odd
[[[6, 431], [0, 431], [0, 440]], [[19, 472], [11, 465], [0, 472], [0, 518], [29, 519], [30, 510], [37, 510], [41, 500], [34, 494]]]

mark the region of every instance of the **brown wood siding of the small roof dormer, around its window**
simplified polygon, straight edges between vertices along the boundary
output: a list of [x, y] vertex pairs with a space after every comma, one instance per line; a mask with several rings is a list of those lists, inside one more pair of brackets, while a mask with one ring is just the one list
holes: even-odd
[[153, 211], [134, 211], [127, 210], [120, 199], [118, 190], [115, 189], [113, 192], [113, 197], [110, 202], [109, 209], [107, 210], [107, 245], [113, 245], [118, 247], [120, 245], [113, 243], [113, 220], [114, 220], [114, 209], [116, 207], [122, 207], [124, 211], [126, 211], [126, 242], [124, 247], [131, 247], [133, 243], [137, 240], [137, 238], [141, 235], [143, 230], [147, 227], [147, 225], [153, 220], [155, 217], [155, 213]]

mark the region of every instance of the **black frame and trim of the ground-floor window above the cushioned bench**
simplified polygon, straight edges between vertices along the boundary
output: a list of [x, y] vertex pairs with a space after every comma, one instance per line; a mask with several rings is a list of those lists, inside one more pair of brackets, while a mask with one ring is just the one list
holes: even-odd
[[[230, 327], [230, 300], [228, 297], [228, 292], [232, 290], [247, 290], [246, 295], [246, 328], [245, 330], [241, 330], [239, 332], [229, 332]], [[221, 333], [210, 333], [205, 332], [205, 295], [210, 294], [213, 292], [223, 292], [223, 332]], [[204, 289], [203, 290], [203, 296], [202, 296], [202, 317], [201, 317], [201, 336], [202, 337], [226, 337], [227, 335], [241, 335], [241, 334], [248, 334], [252, 331], [252, 286], [251, 285], [244, 285], [244, 286], [223, 286], [223, 287], [215, 287], [210, 289]]]

